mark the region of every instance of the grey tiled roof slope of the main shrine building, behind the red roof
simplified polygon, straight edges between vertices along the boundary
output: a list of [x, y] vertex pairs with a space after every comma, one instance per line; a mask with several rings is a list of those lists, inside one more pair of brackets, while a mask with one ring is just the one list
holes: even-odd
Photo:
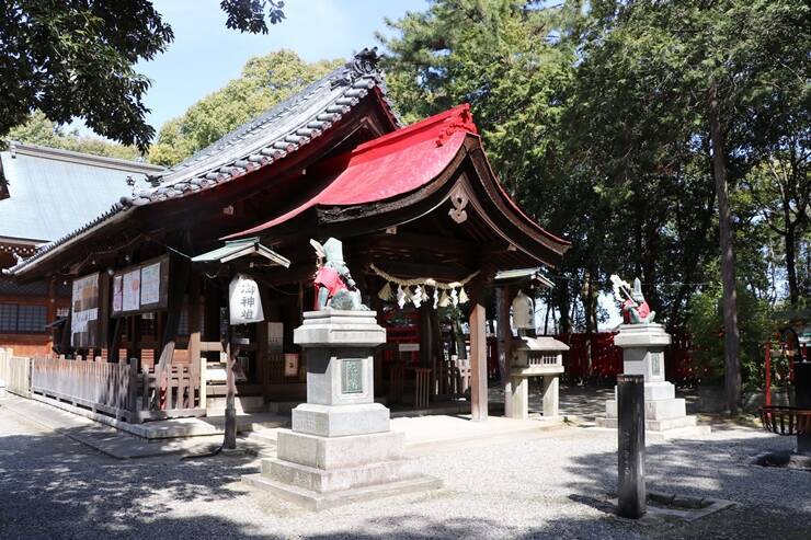
[[270, 165], [320, 137], [375, 88], [379, 90], [395, 124], [400, 125], [386, 97], [385, 82], [377, 70], [377, 58], [376, 49], [363, 49], [345, 66], [239, 126], [214, 145], [162, 174], [150, 175], [151, 187], [141, 188], [136, 184], [132, 196], [122, 197], [105, 214], [43, 245], [34, 255], [4, 272], [22, 272], [85, 231], [103, 227], [105, 221], [134, 207], [180, 198]]

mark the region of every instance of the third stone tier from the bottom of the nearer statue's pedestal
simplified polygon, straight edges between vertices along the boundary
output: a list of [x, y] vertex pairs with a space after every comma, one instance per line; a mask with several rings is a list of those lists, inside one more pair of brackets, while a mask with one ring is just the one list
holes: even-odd
[[279, 429], [276, 444], [278, 459], [323, 470], [406, 457], [406, 435], [400, 432], [320, 437]]

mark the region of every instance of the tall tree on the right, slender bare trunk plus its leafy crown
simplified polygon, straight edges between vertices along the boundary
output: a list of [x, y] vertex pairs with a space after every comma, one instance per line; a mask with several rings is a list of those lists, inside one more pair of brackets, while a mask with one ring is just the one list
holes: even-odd
[[[781, 101], [781, 85], [797, 85], [808, 70], [809, 8], [804, 2], [700, 0], [595, 1], [595, 24], [584, 64], [609, 62], [612, 87], [648, 83], [654, 100], [666, 100], [677, 135], [705, 139], [718, 203], [723, 289], [727, 406], [736, 412], [741, 375], [729, 183], [751, 168], [758, 134], [753, 117]], [[625, 69], [630, 65], [631, 69]], [[610, 66], [632, 77], [615, 77]], [[607, 103], [614, 106], [616, 103]], [[685, 131], [688, 129], [688, 131]]]

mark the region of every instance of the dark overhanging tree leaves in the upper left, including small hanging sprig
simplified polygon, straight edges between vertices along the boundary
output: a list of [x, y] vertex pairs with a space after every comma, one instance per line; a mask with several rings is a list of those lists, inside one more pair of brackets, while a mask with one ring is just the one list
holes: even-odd
[[[222, 0], [226, 25], [267, 33], [284, 2]], [[149, 80], [135, 64], [173, 39], [150, 0], [9, 0], [0, 7], [0, 137], [35, 110], [57, 124], [75, 117], [99, 135], [146, 151]]]

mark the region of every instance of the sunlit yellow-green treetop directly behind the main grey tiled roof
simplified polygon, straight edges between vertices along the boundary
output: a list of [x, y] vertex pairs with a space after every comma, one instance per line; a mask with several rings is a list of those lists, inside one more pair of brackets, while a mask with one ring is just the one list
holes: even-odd
[[150, 149], [149, 160], [173, 165], [342, 64], [343, 60], [308, 64], [292, 50], [251, 58], [240, 78], [167, 122]]

